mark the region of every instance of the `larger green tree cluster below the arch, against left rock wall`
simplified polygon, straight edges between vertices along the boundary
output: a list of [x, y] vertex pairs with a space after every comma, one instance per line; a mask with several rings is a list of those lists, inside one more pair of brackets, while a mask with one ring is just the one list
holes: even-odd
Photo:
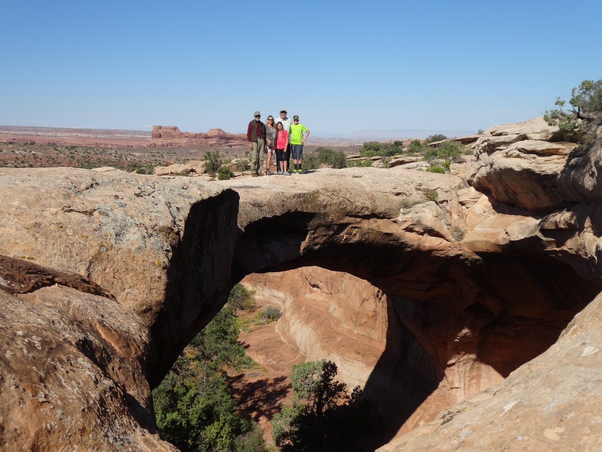
[[[237, 294], [237, 303], [247, 306], [247, 297], [240, 301]], [[226, 304], [153, 391], [161, 436], [182, 451], [266, 451], [261, 428], [238, 412], [226, 380], [228, 369], [252, 365], [239, 334], [237, 315]]]

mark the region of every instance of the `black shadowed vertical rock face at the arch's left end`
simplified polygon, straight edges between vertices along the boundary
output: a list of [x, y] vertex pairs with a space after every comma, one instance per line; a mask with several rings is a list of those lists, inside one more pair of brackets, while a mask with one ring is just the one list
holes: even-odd
[[184, 347], [228, 299], [239, 200], [237, 192], [224, 190], [191, 207], [184, 236], [172, 246], [163, 306], [139, 313], [154, 316], [146, 317], [151, 388], [161, 383]]

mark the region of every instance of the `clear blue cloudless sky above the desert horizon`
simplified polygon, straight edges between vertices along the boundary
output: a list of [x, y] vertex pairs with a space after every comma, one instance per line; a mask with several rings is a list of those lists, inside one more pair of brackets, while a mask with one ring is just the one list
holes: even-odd
[[0, 125], [477, 131], [602, 78], [602, 1], [2, 0]]

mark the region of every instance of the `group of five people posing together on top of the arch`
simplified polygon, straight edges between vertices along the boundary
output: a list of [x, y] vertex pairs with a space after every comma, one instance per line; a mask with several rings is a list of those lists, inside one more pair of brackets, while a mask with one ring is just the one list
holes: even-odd
[[[266, 157], [265, 175], [274, 174], [270, 171], [272, 155], [276, 154], [276, 172], [290, 176], [291, 173], [302, 173], [303, 143], [309, 136], [309, 130], [300, 124], [299, 116], [293, 120], [287, 117], [287, 109], [280, 109], [280, 118], [275, 121], [272, 115], [268, 116], [265, 124], [261, 122], [261, 113], [255, 111], [253, 119], [247, 128], [247, 140], [251, 150], [251, 175], [262, 176], [262, 163]], [[291, 154], [294, 168], [290, 167]]]

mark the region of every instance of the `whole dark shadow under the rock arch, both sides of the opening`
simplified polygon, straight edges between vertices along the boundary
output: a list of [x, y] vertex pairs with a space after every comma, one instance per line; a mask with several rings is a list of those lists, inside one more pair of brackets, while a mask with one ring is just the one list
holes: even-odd
[[[301, 210], [261, 216], [241, 228], [239, 209], [238, 193], [224, 190], [190, 210], [184, 237], [173, 246], [166, 302], [151, 324], [151, 387], [247, 274], [303, 266], [347, 272], [387, 297], [385, 352], [364, 388], [367, 397], [388, 404], [388, 428], [370, 442], [374, 448], [389, 442], [436, 391], [456, 354], [474, 354], [505, 377], [553, 344], [602, 289], [560, 260], [533, 255], [526, 243], [468, 259], [410, 246], [386, 219], [379, 229]], [[471, 341], [456, 344], [465, 329]]]

